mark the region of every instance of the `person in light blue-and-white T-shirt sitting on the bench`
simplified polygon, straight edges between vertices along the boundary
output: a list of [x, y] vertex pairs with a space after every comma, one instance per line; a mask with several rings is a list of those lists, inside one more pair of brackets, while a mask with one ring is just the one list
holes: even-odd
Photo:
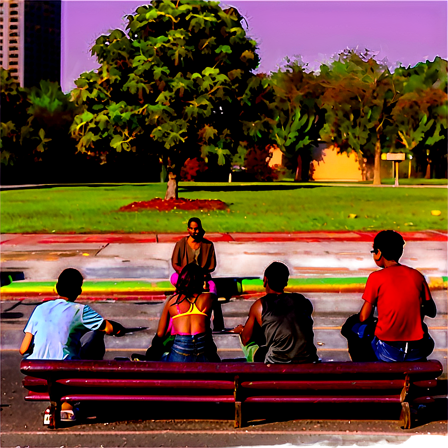
[[[23, 329], [19, 352], [27, 359], [102, 359], [104, 334], [122, 336], [124, 327], [103, 319], [88, 305], [75, 303], [82, 292], [82, 274], [64, 269], [56, 283], [59, 297], [37, 305]], [[62, 421], [73, 421], [69, 403], [62, 403]]]

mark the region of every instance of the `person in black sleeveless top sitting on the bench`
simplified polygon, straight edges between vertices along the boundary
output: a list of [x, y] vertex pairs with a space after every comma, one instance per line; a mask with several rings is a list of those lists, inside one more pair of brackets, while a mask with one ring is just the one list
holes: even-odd
[[[266, 295], [252, 304], [246, 323], [232, 330], [240, 335], [242, 349], [248, 361], [318, 361], [312, 331], [312, 304], [302, 294], [283, 291], [288, 278], [289, 269], [286, 264], [280, 261], [270, 263], [263, 274]], [[265, 346], [259, 348], [256, 341], [251, 341], [258, 325], [265, 339]], [[260, 351], [264, 356], [260, 356]]]

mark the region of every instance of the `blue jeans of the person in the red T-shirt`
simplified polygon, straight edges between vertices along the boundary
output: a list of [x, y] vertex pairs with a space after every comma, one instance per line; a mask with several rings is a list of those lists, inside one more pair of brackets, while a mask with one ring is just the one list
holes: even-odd
[[434, 349], [434, 341], [429, 333], [420, 340], [409, 342], [383, 341], [376, 336], [372, 340], [373, 351], [380, 361], [426, 361]]

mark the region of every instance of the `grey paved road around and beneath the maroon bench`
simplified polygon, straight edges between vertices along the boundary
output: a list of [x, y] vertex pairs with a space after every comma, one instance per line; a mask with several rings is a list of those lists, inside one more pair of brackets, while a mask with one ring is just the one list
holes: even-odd
[[[318, 354], [323, 360], [348, 360], [345, 340], [339, 328], [346, 316], [359, 309], [359, 294], [308, 294], [314, 306], [314, 333]], [[434, 358], [444, 364], [446, 377], [446, 293], [435, 291], [441, 315], [428, 319], [436, 341]], [[1, 438], [2, 446], [411, 446], [424, 440], [446, 446], [446, 399], [438, 398], [428, 410], [430, 423], [421, 422], [402, 430], [396, 420], [399, 409], [389, 406], [285, 406], [251, 409], [250, 425], [233, 429], [227, 420], [231, 409], [200, 406], [144, 406], [99, 408], [97, 418], [70, 428], [49, 431], [42, 426], [45, 403], [25, 403], [18, 371], [17, 347], [22, 328], [39, 298], [21, 302], [1, 302]], [[223, 304], [227, 326], [243, 322], [251, 300]], [[144, 352], [154, 334], [161, 311], [160, 301], [95, 302], [91, 306], [102, 315], [128, 326], [148, 326], [147, 330], [121, 338], [105, 337], [106, 355], [128, 356]], [[221, 358], [242, 356], [235, 335], [214, 336]], [[95, 413], [95, 412], [93, 412]], [[188, 415], [188, 419], [185, 419]], [[378, 420], [378, 416], [381, 419]], [[211, 417], [210, 417], [211, 416]], [[431, 434], [428, 436], [428, 434]], [[424, 439], [421, 438], [424, 435]], [[417, 438], [415, 438], [417, 437]], [[420, 437], [420, 438], [418, 438]]]

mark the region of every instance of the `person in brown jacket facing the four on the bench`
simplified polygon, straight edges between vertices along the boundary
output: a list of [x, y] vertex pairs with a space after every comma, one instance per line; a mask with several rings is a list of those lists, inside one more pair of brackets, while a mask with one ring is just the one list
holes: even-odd
[[216, 268], [216, 254], [213, 243], [204, 238], [205, 230], [199, 218], [191, 217], [187, 224], [188, 236], [184, 236], [174, 245], [171, 255], [171, 265], [174, 273], [170, 281], [176, 285], [179, 273], [184, 266], [189, 263], [195, 263], [203, 269], [206, 289], [216, 295], [213, 303], [213, 331], [224, 329], [224, 318], [222, 316], [221, 305], [217, 300], [216, 285], [211, 279], [210, 272]]

